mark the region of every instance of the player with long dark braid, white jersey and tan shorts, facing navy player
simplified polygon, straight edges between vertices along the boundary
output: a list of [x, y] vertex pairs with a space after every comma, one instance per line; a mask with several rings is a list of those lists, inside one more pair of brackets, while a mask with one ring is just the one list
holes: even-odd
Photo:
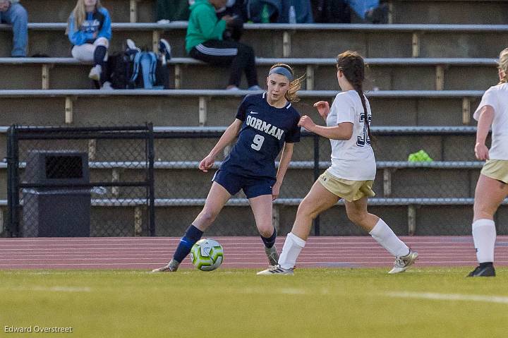
[[312, 222], [320, 212], [344, 198], [346, 212], [354, 224], [368, 231], [373, 239], [396, 257], [389, 273], [404, 272], [418, 257], [376, 215], [367, 212], [367, 198], [375, 179], [375, 158], [370, 146], [370, 104], [363, 95], [365, 65], [357, 52], [337, 56], [337, 80], [342, 92], [335, 97], [332, 109], [328, 102], [314, 104], [327, 126], [317, 126], [309, 116], [302, 116], [300, 126], [332, 143], [332, 167], [314, 183], [296, 212], [293, 229], [287, 235], [279, 265], [258, 274], [293, 274], [296, 259], [306, 244]]

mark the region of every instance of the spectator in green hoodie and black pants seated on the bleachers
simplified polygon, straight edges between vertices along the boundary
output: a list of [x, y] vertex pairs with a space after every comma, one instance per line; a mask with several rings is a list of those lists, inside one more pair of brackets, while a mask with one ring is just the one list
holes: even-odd
[[238, 90], [241, 73], [245, 72], [248, 89], [261, 90], [255, 68], [252, 47], [240, 42], [222, 40], [226, 25], [234, 22], [234, 17], [217, 18], [215, 10], [225, 5], [226, 0], [196, 0], [191, 6], [186, 50], [194, 59], [217, 66], [229, 66], [230, 76], [226, 89]]

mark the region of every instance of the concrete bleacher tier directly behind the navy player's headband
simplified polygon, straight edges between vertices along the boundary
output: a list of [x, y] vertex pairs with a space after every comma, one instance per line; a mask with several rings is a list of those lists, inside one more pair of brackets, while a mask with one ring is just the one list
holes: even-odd
[[[485, 90], [497, 84], [496, 59], [365, 59], [369, 69], [366, 90]], [[305, 74], [302, 89], [337, 88], [335, 59], [258, 58], [258, 81], [265, 83], [272, 64], [294, 66], [296, 75]], [[90, 65], [72, 58], [0, 58], [0, 89], [88, 89]], [[170, 61], [171, 88], [222, 89], [229, 79], [228, 68], [217, 68], [190, 58]], [[464, 78], [475, 78], [464, 81]], [[416, 80], [418, 79], [418, 80]], [[243, 87], [246, 87], [243, 78]]]

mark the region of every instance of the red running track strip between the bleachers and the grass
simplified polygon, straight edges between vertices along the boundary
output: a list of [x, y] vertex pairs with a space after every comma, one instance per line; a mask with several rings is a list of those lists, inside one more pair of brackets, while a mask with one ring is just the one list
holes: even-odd
[[[259, 237], [214, 237], [224, 247], [223, 267], [267, 266]], [[401, 237], [418, 251], [418, 266], [476, 265], [471, 236]], [[179, 238], [0, 239], [0, 269], [146, 269], [165, 265]], [[277, 239], [282, 249], [284, 237]], [[389, 267], [394, 258], [370, 236], [310, 237], [298, 267]], [[498, 236], [495, 265], [508, 266], [508, 236]], [[191, 267], [186, 258], [181, 267]]]

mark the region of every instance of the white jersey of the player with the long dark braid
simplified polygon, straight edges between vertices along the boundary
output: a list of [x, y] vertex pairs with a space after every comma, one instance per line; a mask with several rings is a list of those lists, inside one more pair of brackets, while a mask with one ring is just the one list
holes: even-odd
[[[370, 104], [365, 97], [368, 119], [372, 118]], [[370, 181], [375, 179], [375, 158], [368, 138], [365, 112], [356, 90], [339, 92], [327, 116], [327, 126], [353, 123], [353, 135], [349, 140], [330, 140], [332, 143], [332, 167], [328, 171], [339, 179]]]

